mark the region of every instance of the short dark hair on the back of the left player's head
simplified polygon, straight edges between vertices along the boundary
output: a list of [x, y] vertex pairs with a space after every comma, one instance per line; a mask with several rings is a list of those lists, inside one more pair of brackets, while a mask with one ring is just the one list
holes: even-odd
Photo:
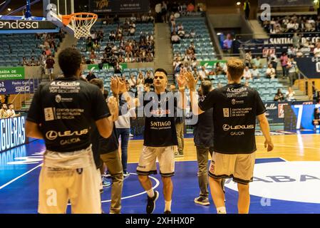
[[75, 48], [66, 48], [58, 56], [59, 66], [66, 78], [76, 76], [81, 68], [82, 56]]

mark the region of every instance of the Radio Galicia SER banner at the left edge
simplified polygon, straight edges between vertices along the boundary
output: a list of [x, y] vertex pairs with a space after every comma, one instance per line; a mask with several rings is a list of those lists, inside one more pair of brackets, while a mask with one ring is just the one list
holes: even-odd
[[6, 80], [0, 81], [0, 95], [29, 93], [38, 87], [38, 81], [32, 80]]

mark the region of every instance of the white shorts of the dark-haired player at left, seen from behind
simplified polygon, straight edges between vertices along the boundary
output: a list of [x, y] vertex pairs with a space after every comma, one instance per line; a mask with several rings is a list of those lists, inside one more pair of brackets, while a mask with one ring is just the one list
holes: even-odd
[[[47, 150], [44, 155], [39, 176], [38, 212], [65, 214], [70, 199], [73, 214], [101, 214], [100, 182], [91, 147], [70, 156], [60, 154]], [[67, 167], [81, 163], [83, 168]]]

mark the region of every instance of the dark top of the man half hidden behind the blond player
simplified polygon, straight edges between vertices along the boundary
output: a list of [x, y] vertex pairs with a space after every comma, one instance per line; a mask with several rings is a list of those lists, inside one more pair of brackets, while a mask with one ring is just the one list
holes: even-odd
[[198, 121], [193, 128], [194, 142], [198, 147], [213, 147], [213, 108], [198, 116]]

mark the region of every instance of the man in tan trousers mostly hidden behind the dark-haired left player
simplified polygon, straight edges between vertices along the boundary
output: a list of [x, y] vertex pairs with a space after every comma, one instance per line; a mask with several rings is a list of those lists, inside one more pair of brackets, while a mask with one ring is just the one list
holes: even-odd
[[[103, 81], [98, 78], [94, 78], [90, 81], [90, 83], [98, 86], [103, 94]], [[111, 90], [115, 91], [116, 84], [118, 84], [118, 81], [112, 78]], [[116, 99], [118, 100], [118, 98]], [[112, 122], [118, 120], [118, 112], [114, 113], [114, 115], [110, 115], [108, 119]], [[92, 125], [91, 142], [93, 154], [100, 154], [100, 158], [108, 167], [108, 172], [112, 178], [110, 214], [120, 214], [121, 194], [123, 190], [123, 167], [118, 151], [119, 142], [115, 125], [113, 125], [113, 132], [107, 139], [103, 138], [99, 134], [96, 125]], [[104, 170], [102, 173], [104, 173]]]

